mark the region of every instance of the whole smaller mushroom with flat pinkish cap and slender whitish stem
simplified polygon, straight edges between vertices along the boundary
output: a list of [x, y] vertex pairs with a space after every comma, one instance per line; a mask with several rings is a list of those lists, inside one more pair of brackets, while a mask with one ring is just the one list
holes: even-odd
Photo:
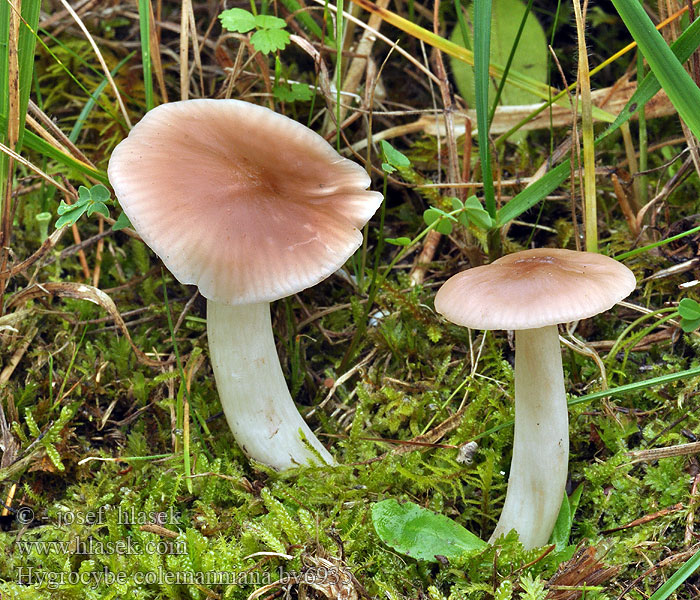
[[445, 282], [436, 310], [473, 329], [515, 330], [515, 433], [503, 512], [489, 540], [515, 529], [547, 543], [566, 485], [568, 414], [557, 324], [592, 317], [627, 297], [632, 271], [592, 252], [525, 250]]

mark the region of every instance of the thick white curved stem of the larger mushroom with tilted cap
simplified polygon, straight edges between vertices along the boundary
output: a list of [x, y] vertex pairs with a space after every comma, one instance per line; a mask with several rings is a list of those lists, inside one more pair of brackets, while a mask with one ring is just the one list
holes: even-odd
[[309, 461], [334, 464], [289, 395], [269, 303], [229, 306], [207, 300], [207, 336], [221, 405], [246, 456], [278, 471]]

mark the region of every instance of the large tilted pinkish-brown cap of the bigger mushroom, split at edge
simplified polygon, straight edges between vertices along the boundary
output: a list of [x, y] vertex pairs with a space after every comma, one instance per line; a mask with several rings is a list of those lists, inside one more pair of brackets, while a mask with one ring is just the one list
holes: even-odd
[[134, 229], [206, 298], [283, 298], [339, 269], [382, 201], [321, 136], [262, 106], [186, 100], [149, 111], [112, 153]]

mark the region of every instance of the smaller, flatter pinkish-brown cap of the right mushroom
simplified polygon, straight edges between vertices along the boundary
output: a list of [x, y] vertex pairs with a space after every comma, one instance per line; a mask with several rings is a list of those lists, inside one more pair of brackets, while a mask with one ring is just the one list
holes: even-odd
[[597, 315], [636, 285], [632, 271], [607, 256], [537, 248], [451, 277], [435, 309], [472, 329], [536, 329]]

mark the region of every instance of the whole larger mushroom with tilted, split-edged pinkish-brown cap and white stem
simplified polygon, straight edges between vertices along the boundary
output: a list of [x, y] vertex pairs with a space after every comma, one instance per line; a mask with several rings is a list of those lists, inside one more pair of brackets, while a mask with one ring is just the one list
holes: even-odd
[[207, 299], [216, 385], [243, 452], [276, 470], [333, 464], [289, 394], [269, 305], [360, 246], [382, 201], [365, 170], [267, 108], [201, 99], [148, 112], [108, 175], [144, 242]]

